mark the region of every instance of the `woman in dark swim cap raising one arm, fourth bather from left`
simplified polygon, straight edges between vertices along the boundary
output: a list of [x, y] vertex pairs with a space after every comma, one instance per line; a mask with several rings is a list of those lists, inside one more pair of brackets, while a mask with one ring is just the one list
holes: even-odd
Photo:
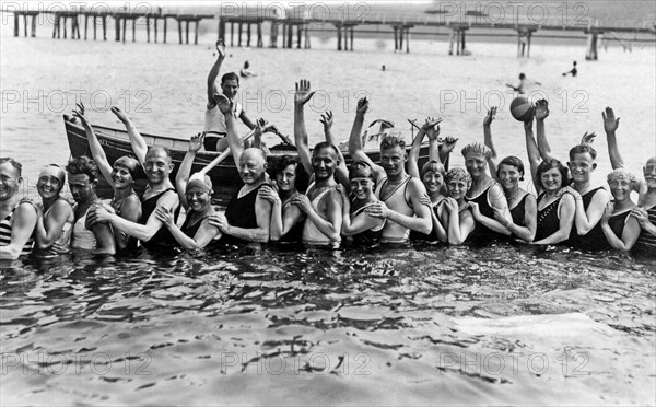
[[[118, 109], [113, 109], [113, 112], [117, 116], [120, 114], [120, 111]], [[141, 201], [134, 191], [136, 172], [139, 162], [133, 156], [124, 155], [117, 159], [114, 162], [114, 165], [109, 165], [107, 155], [105, 155], [105, 151], [103, 150], [93, 127], [91, 127], [89, 120], [84, 116], [83, 104], [78, 103], [78, 109], [73, 111], [73, 116], [78, 117], [82, 127], [84, 127], [91, 155], [107, 184], [114, 189], [114, 196], [112, 197], [112, 202], [109, 205], [116, 214], [125, 220], [139, 222], [139, 218], [141, 218]], [[130, 236], [126, 232], [121, 232], [119, 229], [114, 229], [114, 239], [116, 240], [116, 251], [118, 253], [129, 253], [137, 249], [137, 239]]]

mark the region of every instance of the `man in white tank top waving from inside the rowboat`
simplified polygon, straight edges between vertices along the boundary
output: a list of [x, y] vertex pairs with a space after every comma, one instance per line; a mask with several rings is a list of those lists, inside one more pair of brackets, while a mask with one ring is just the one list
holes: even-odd
[[[216, 107], [216, 98], [220, 95], [216, 88], [216, 78], [219, 78], [221, 65], [225, 59], [225, 44], [223, 43], [223, 39], [216, 42], [216, 62], [214, 62], [208, 74], [208, 105], [204, 114], [203, 131], [206, 132], [204, 149], [207, 151], [221, 152], [227, 148], [225, 119], [223, 114]], [[255, 128], [255, 123], [248, 117], [246, 111], [242, 107], [242, 104], [235, 101], [238, 90], [239, 77], [236, 73], [229, 72], [221, 77], [221, 92], [233, 102], [233, 117], [238, 117], [244, 125], [249, 129], [253, 129]], [[244, 146], [248, 148], [249, 143], [246, 142]]]

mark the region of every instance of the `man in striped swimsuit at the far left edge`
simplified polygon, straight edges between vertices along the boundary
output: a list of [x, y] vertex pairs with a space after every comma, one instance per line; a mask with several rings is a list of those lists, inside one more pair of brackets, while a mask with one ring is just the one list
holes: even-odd
[[0, 158], [0, 259], [15, 260], [32, 253], [37, 209], [21, 200], [23, 166], [10, 158]]

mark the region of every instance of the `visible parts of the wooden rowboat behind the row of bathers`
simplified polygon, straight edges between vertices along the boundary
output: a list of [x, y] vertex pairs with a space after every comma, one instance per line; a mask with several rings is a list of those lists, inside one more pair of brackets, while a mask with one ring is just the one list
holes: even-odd
[[[86, 140], [86, 132], [84, 131], [84, 128], [82, 127], [80, 121], [74, 117], [63, 115], [63, 124], [66, 127], [66, 136], [68, 138], [71, 156], [91, 156], [91, 150]], [[107, 155], [107, 161], [109, 163], [114, 163], [114, 161], [116, 161], [122, 155], [133, 155], [132, 148], [130, 146], [130, 139], [128, 137], [128, 132], [125, 129], [114, 129], [96, 125], [92, 125], [92, 127], [98, 138], [98, 141], [105, 150], [105, 154]], [[179, 167], [183, 159], [185, 158], [188, 141], [165, 136], [149, 135], [145, 132], [141, 132], [141, 136], [143, 136], [149, 147], [161, 146], [171, 150], [173, 162], [175, 164], [175, 168], [172, 174], [173, 179], [175, 177], [177, 168]], [[374, 150], [368, 150], [371, 148], [373, 148]], [[340, 149], [344, 154], [344, 159], [348, 165], [353, 160], [349, 155], [348, 151], [345, 151], [345, 146], [340, 147]], [[273, 146], [270, 148], [270, 150], [271, 153], [268, 155], [269, 165], [271, 165], [271, 162], [273, 160], [282, 155], [297, 155], [296, 148], [291, 144]], [[377, 163], [380, 161], [380, 151], [378, 150], [378, 146], [367, 144], [366, 153], [372, 158], [374, 162]], [[199, 151], [196, 155], [196, 160], [194, 161], [191, 173], [196, 173], [202, 170], [219, 154], [220, 153], [213, 151]], [[420, 166], [427, 161], [427, 144], [422, 146], [419, 160]], [[137, 189], [139, 190], [145, 186], [145, 176], [143, 173], [137, 175], [139, 178], [137, 181]], [[208, 175], [212, 178], [212, 183], [214, 184], [214, 198], [218, 199], [220, 203], [226, 203], [227, 199], [230, 199], [232, 194], [234, 194], [234, 191], [243, 185], [232, 155], [229, 155], [223, 162], [221, 162], [219, 165], [212, 168], [208, 173]], [[109, 187], [109, 185], [107, 185], [107, 183], [104, 179], [101, 179], [101, 183], [98, 185], [98, 194], [103, 197], [110, 197], [113, 194], [112, 188]]]

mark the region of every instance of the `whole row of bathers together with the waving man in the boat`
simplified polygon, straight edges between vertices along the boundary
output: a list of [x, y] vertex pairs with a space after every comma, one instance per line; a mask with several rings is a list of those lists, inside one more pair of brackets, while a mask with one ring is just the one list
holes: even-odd
[[[250, 121], [233, 101], [238, 75], [223, 75], [219, 92], [214, 82], [225, 48], [218, 44], [216, 49], [219, 58], [208, 78], [206, 128], [189, 140], [175, 185], [169, 179], [174, 170], [171, 152], [149, 148], [116, 107], [112, 112], [126, 126], [134, 158], [121, 156], [110, 164], [79, 104], [74, 116], [86, 131], [93, 158], [73, 158], [65, 168], [55, 164], [44, 167], [37, 182], [42, 203], [20, 193], [21, 164], [0, 159], [0, 258], [15, 259], [33, 247], [114, 255], [133, 253], [139, 246], [172, 253], [176, 247], [251, 242], [336, 248], [413, 240], [450, 245], [515, 241], [656, 253], [656, 156], [647, 160], [644, 177], [624, 168], [616, 139], [619, 118], [611, 108], [602, 113], [613, 167], [607, 189], [590, 185], [597, 166], [597, 152], [590, 144], [594, 135], [586, 133], [570, 150], [564, 165], [552, 156], [547, 139], [548, 103], [537, 103], [535, 117], [524, 124], [536, 197], [519, 187], [525, 176], [520, 159], [497, 161], [491, 131], [496, 108], [483, 119], [484, 142], [461, 149], [465, 168], [445, 165], [457, 139], [441, 140], [441, 119], [432, 117], [420, 127], [409, 152], [398, 135], [379, 135], [380, 162], [376, 164], [363, 150], [368, 101], [361, 98], [349, 138], [353, 162], [347, 167], [331, 132], [329, 112], [321, 116], [326, 141], [311, 151], [304, 106], [314, 92], [308, 81], [301, 80], [294, 95], [297, 155], [280, 156], [269, 167], [261, 135], [270, 126], [262, 119]], [[238, 137], [237, 118], [255, 130], [253, 143]], [[425, 137], [429, 161], [420, 167]], [[224, 213], [211, 203], [211, 179], [191, 175], [196, 154], [203, 147], [214, 151], [230, 148], [244, 184]], [[148, 179], [141, 198], [133, 188], [140, 166]], [[61, 196], [67, 176], [74, 206]], [[114, 188], [110, 202], [96, 195], [99, 176]], [[301, 187], [304, 176], [309, 179], [307, 188]], [[632, 200], [632, 191], [637, 193], [637, 202]], [[180, 209], [186, 214], [181, 224]]]

